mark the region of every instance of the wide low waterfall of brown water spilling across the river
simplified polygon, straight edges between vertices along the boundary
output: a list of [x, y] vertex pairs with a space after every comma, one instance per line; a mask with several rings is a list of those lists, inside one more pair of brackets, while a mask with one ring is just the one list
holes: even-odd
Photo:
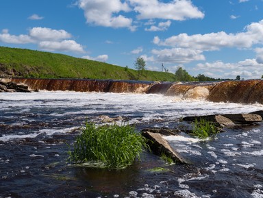
[[101, 79], [32, 79], [12, 78], [12, 82], [25, 84], [32, 90], [69, 90], [77, 92], [140, 92], [162, 94], [179, 99], [207, 99], [213, 102], [263, 103], [263, 81], [180, 83], [140, 82]]

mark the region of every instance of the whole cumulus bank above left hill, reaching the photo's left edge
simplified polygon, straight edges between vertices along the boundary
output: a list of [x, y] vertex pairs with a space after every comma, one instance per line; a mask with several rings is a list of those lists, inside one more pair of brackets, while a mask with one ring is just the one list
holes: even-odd
[[34, 27], [29, 29], [29, 34], [21, 34], [18, 36], [11, 35], [8, 29], [3, 29], [0, 34], [0, 42], [27, 44], [34, 43], [39, 49], [47, 51], [73, 51], [84, 53], [84, 47], [75, 40], [70, 40], [71, 34], [63, 29], [50, 29], [47, 27]]

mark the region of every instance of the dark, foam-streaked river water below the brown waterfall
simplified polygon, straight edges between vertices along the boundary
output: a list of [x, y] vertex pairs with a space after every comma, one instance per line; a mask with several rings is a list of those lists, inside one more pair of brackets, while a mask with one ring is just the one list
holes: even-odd
[[190, 165], [168, 165], [149, 152], [123, 170], [67, 162], [68, 145], [86, 121], [110, 117], [140, 131], [177, 127], [183, 116], [262, 108], [155, 94], [0, 93], [0, 197], [263, 197], [262, 124], [206, 141], [184, 132], [167, 136]]

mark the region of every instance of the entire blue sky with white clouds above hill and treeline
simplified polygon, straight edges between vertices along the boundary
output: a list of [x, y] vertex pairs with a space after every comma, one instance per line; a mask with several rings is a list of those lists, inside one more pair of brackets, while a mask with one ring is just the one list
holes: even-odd
[[0, 46], [254, 79], [263, 75], [262, 11], [263, 0], [1, 0]]

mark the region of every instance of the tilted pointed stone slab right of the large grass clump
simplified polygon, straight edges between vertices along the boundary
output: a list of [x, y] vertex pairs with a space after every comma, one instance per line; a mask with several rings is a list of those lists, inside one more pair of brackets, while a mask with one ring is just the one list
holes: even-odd
[[189, 164], [186, 159], [179, 156], [179, 153], [175, 152], [171, 148], [168, 142], [164, 138], [162, 138], [161, 134], [142, 132], [142, 136], [145, 136], [145, 138], [149, 140], [148, 145], [154, 153], [160, 156], [164, 153], [166, 154], [166, 156], [172, 158], [175, 162], [179, 162], [181, 164]]

